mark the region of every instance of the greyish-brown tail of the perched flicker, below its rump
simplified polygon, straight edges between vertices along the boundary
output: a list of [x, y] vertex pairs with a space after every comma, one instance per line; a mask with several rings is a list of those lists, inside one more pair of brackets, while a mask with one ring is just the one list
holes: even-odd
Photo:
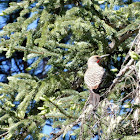
[[94, 91], [90, 91], [89, 103], [93, 106], [97, 106], [100, 102], [100, 95], [95, 93]]

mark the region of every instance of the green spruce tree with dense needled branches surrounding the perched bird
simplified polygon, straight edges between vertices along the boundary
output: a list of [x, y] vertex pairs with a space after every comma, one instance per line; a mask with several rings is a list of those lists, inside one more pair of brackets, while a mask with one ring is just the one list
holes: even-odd
[[[132, 0], [11, 2], [0, 15], [19, 16], [0, 32], [0, 51], [23, 52], [27, 68], [0, 83], [0, 138], [139, 139], [139, 9]], [[110, 54], [110, 76], [94, 110], [83, 77], [96, 54]], [[50, 135], [47, 119], [58, 128]]]

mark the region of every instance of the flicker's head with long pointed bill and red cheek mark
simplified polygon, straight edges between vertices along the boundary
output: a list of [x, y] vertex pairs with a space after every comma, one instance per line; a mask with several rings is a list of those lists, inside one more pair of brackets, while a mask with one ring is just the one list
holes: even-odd
[[109, 56], [109, 54], [105, 54], [105, 55], [102, 55], [102, 56], [99, 56], [99, 55], [93, 55], [91, 56], [89, 59], [88, 59], [88, 67], [90, 66], [93, 66], [94, 64], [99, 64], [100, 61], [106, 57], [106, 56]]

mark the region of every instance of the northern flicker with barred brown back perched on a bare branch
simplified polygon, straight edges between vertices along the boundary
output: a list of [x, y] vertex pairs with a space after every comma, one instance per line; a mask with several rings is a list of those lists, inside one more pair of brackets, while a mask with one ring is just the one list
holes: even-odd
[[84, 75], [84, 81], [87, 84], [90, 91], [90, 103], [93, 106], [98, 105], [100, 101], [100, 95], [96, 93], [96, 90], [102, 84], [105, 77], [105, 70], [99, 65], [102, 58], [108, 56], [109, 54], [98, 56], [94, 55], [88, 59], [87, 65], [88, 69]]

